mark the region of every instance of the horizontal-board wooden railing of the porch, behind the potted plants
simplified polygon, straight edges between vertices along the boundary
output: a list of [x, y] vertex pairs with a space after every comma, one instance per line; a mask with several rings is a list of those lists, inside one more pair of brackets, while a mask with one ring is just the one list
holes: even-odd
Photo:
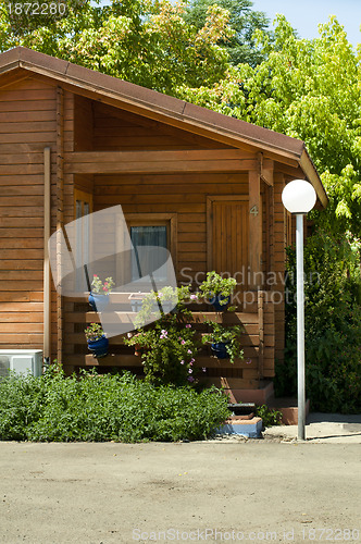
[[[209, 305], [192, 305], [189, 309], [192, 318], [189, 320], [201, 334], [206, 332], [206, 320], [212, 320], [224, 325], [242, 325], [241, 346], [244, 358], [231, 363], [228, 359], [217, 359], [212, 356], [210, 347], [203, 346], [196, 358], [195, 366], [207, 369], [200, 373], [207, 383], [221, 385], [226, 379], [232, 387], [258, 388], [263, 378], [272, 376], [274, 370], [274, 307], [267, 299], [267, 292], [259, 292], [257, 302], [242, 308], [242, 311], [215, 312], [210, 311]], [[112, 302], [117, 302], [116, 294], [112, 294]], [[64, 300], [64, 342], [63, 364], [71, 373], [79, 368], [98, 367], [110, 370], [117, 367], [142, 375], [141, 358], [134, 355], [134, 348], [125, 346], [124, 335], [110, 338], [109, 355], [96, 359], [89, 355], [84, 329], [89, 323], [100, 322], [100, 317], [90, 307], [86, 299]], [[116, 311], [120, 322], [133, 323], [136, 313], [127, 310]]]

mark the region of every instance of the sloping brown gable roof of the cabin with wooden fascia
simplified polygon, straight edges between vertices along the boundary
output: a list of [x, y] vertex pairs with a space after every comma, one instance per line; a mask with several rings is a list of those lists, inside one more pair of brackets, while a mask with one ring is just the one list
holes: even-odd
[[75, 94], [78, 91], [90, 98], [101, 98], [103, 102], [112, 106], [158, 119], [183, 129], [198, 132], [235, 147], [252, 146], [265, 157], [294, 166], [300, 165], [314, 186], [322, 205], [327, 205], [326, 191], [320, 176], [304, 143], [299, 139], [25, 47], [0, 53], [0, 78], [18, 71], [33, 72], [61, 82]]

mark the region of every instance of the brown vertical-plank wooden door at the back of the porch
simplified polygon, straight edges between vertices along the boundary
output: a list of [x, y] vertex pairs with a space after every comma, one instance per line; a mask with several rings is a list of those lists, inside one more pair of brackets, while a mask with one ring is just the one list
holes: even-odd
[[208, 269], [236, 277], [244, 290], [248, 275], [247, 197], [210, 197], [208, 209]]

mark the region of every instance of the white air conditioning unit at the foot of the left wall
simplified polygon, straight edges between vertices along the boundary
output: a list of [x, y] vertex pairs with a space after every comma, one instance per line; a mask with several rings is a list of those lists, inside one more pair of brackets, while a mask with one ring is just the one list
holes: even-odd
[[41, 349], [0, 349], [0, 378], [7, 376], [9, 370], [16, 374], [29, 371], [35, 376], [41, 375]]

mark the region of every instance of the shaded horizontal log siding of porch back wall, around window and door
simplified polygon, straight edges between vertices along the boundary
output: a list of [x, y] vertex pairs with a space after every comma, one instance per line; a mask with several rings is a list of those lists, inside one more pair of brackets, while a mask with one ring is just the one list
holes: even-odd
[[[121, 205], [126, 213], [177, 214], [177, 277], [207, 271], [207, 195], [246, 195], [245, 174], [95, 176], [95, 211]], [[189, 280], [188, 280], [189, 281]]]

